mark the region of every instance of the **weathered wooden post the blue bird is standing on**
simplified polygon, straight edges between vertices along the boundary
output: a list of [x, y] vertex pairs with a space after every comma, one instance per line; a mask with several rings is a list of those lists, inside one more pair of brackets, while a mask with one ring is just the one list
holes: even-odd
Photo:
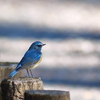
[[5, 79], [1, 83], [2, 100], [24, 100], [26, 90], [43, 90], [40, 78]]

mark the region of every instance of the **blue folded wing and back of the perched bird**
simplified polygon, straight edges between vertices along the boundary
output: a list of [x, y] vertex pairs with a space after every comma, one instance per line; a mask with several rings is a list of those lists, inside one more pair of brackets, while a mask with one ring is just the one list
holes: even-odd
[[[26, 65], [27, 63], [31, 63], [34, 65], [35, 63], [37, 63], [41, 58], [41, 52], [37, 52], [37, 51], [27, 51], [24, 55], [24, 57], [22, 58], [22, 60], [19, 62], [18, 66], [16, 67], [16, 70], [19, 69], [24, 69], [22, 68], [24, 65]], [[30, 67], [30, 65], [28, 66]]]

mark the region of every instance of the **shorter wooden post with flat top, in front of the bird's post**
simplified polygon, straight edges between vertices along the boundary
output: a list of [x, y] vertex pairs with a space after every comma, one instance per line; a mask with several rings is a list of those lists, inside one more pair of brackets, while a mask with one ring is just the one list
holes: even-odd
[[70, 100], [69, 92], [55, 90], [26, 91], [25, 100]]

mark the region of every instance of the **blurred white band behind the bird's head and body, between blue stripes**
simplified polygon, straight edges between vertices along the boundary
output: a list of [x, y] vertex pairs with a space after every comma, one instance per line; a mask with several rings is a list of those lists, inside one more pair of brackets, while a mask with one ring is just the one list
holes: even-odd
[[[33, 41], [37, 39], [1, 38], [0, 59], [3, 62], [19, 62]], [[97, 67], [100, 66], [100, 41], [84, 39], [45, 40], [42, 66], [52, 67]]]

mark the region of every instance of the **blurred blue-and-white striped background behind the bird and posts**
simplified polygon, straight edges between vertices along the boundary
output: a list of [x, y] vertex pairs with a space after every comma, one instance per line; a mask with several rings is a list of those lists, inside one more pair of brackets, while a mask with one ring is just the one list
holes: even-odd
[[44, 89], [100, 100], [99, 0], [0, 0], [0, 62], [19, 62], [36, 40]]

